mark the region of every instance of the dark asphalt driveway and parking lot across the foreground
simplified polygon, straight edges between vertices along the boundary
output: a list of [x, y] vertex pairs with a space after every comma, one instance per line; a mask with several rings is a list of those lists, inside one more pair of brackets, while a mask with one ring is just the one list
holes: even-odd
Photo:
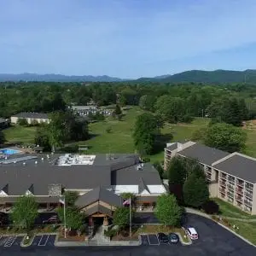
[[[147, 215], [148, 216], [148, 215]], [[153, 216], [151, 216], [154, 219]], [[150, 219], [149, 216], [147, 219]], [[91, 255], [91, 256], [137, 256], [137, 255], [186, 255], [186, 256], [255, 256], [256, 247], [248, 245], [237, 236], [225, 230], [210, 219], [194, 214], [188, 214], [187, 224], [193, 225], [198, 231], [199, 239], [193, 241], [190, 246], [180, 244], [161, 244], [154, 237], [144, 237], [144, 244], [140, 247], [53, 247], [49, 245], [50, 238], [38, 239], [37, 244], [45, 246], [32, 246], [21, 248], [17, 246], [1, 247], [0, 256], [37, 255], [37, 256], [67, 256]], [[12, 241], [12, 239], [11, 239]], [[11, 241], [8, 243], [10, 244]], [[45, 243], [46, 241], [46, 243]], [[14, 242], [15, 244], [15, 242]]]

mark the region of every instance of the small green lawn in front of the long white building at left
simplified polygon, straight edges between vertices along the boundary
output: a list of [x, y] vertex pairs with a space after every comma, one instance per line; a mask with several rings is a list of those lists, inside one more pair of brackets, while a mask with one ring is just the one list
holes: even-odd
[[3, 130], [8, 143], [34, 143], [36, 127], [15, 125]]

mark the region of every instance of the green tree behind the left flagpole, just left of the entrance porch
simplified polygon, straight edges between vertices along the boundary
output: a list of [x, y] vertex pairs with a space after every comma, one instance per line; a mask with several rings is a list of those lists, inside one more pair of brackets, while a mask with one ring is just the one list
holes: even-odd
[[[64, 223], [64, 208], [57, 209], [58, 216], [62, 223]], [[79, 230], [84, 221], [84, 215], [79, 212], [76, 207], [66, 207], [66, 225], [67, 229]]]

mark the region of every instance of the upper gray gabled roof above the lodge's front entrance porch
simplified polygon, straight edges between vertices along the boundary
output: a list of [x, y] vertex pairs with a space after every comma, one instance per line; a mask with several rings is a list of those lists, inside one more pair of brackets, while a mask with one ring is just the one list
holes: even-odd
[[80, 195], [75, 204], [77, 207], [86, 207], [96, 201], [103, 201], [115, 207], [121, 207], [123, 204], [122, 197], [115, 195], [108, 189], [102, 189], [101, 187], [92, 189], [84, 195]]

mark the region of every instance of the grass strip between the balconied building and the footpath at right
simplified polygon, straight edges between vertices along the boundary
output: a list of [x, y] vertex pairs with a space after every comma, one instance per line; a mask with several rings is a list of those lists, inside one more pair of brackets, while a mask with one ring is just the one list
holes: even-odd
[[247, 212], [242, 212], [240, 209], [230, 205], [230, 203], [222, 201], [218, 198], [214, 198], [214, 201], [218, 203], [220, 215], [223, 217], [231, 218], [256, 218], [255, 215], [247, 214]]

